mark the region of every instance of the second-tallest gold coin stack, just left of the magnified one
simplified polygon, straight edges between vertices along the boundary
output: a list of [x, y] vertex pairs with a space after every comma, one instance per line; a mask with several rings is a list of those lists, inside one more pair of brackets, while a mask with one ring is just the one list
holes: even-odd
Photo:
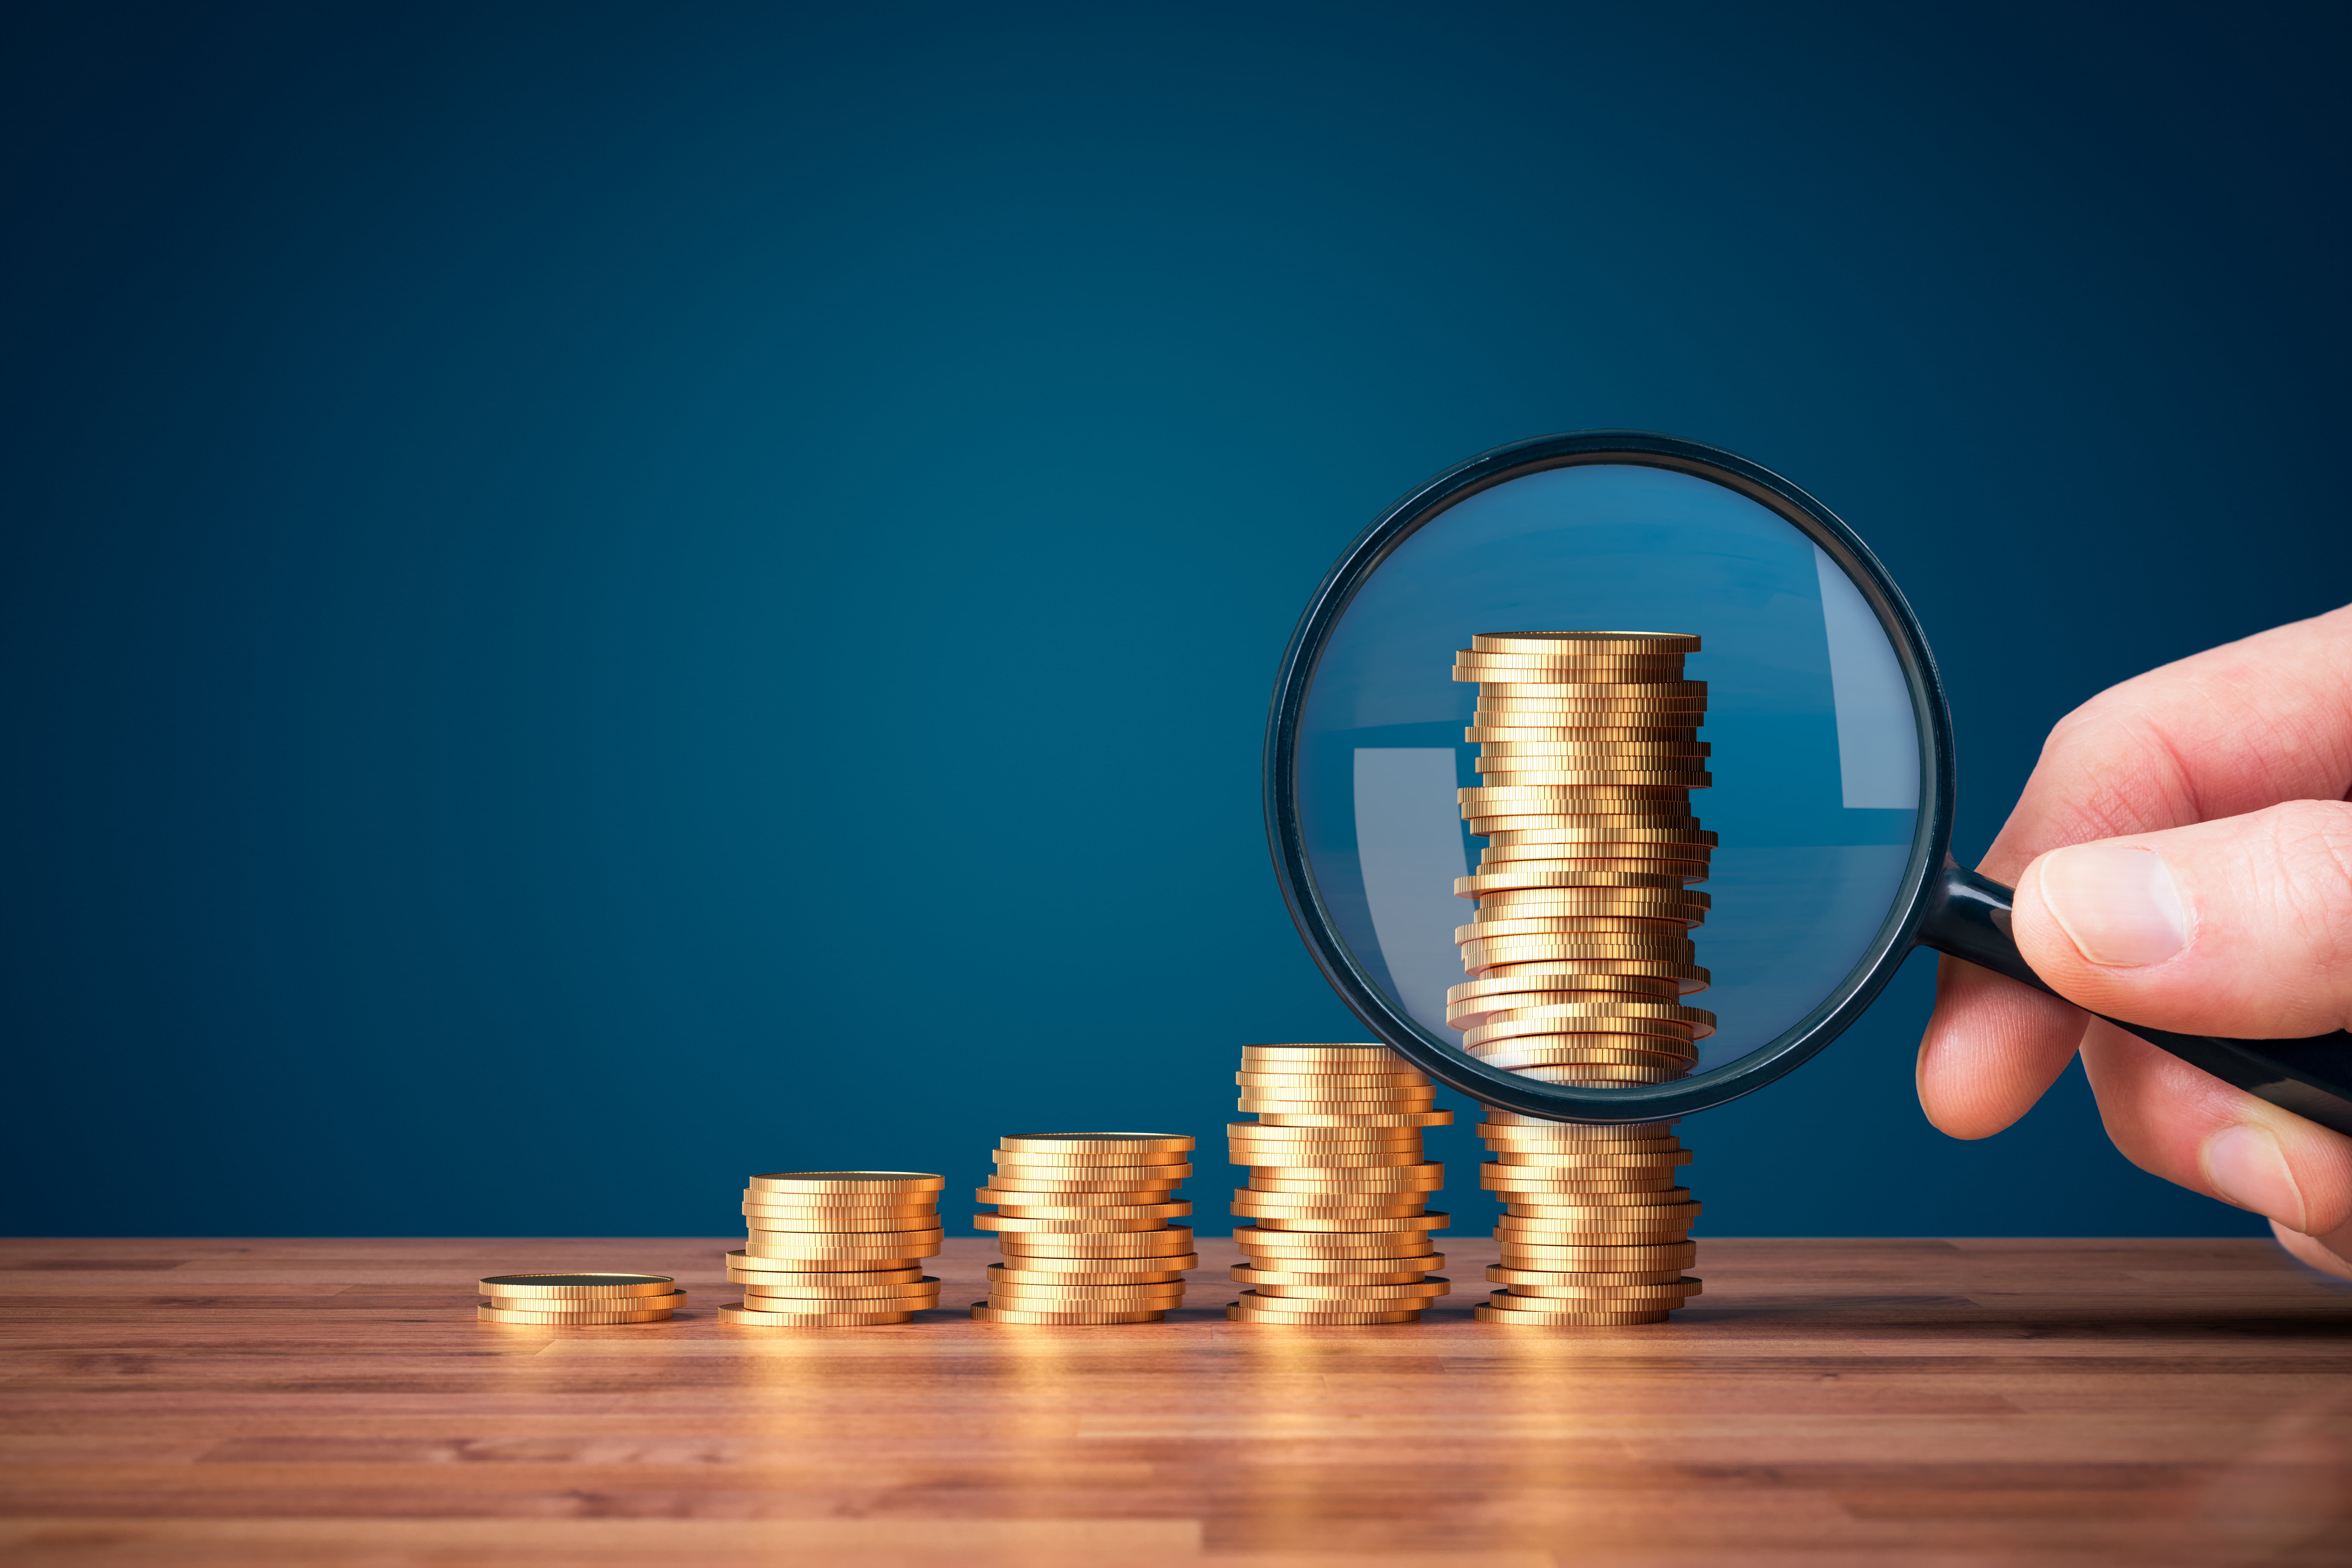
[[1230, 1159], [1249, 1166], [1232, 1232], [1249, 1286], [1225, 1316], [1242, 1324], [1414, 1324], [1451, 1291], [1428, 1208], [1444, 1166], [1421, 1128], [1454, 1121], [1435, 1086], [1388, 1046], [1244, 1046]]

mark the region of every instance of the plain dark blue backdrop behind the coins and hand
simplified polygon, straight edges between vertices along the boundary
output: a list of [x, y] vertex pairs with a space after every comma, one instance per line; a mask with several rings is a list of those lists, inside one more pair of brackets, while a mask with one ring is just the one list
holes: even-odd
[[[1275, 661], [1508, 440], [1837, 508], [1964, 856], [2067, 708], [2347, 597], [2317, 7], [5, 28], [14, 1232], [717, 1234], [1049, 1124], [1204, 1135], [1218, 1227], [1240, 1046], [1359, 1037], [1265, 860]], [[1684, 1126], [1710, 1234], [2258, 1229], [2074, 1074], [1933, 1133], [1929, 983]]]

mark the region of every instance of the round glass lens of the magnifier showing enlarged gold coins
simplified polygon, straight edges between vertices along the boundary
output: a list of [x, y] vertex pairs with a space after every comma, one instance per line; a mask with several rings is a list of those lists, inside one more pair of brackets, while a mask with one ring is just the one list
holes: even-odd
[[[1508, 637], [1611, 628], [1644, 630]], [[1402, 1013], [1526, 1077], [1639, 1084], [1771, 1044], [1863, 964], [1919, 759], [1893, 642], [1813, 538], [1696, 473], [1588, 461], [1463, 494], [1362, 581], [1301, 705], [1298, 825]], [[1477, 1006], [1536, 976], [1545, 1011]]]

